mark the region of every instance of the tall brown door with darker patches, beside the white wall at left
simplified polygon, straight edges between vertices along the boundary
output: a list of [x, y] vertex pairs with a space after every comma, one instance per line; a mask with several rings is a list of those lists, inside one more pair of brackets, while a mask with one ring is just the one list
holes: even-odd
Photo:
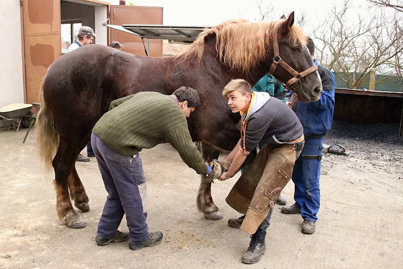
[[39, 88], [50, 64], [61, 55], [60, 0], [21, 0], [26, 102], [39, 102]]

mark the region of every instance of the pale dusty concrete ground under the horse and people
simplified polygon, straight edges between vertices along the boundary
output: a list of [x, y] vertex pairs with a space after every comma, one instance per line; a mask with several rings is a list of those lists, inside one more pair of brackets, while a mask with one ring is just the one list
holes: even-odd
[[[348, 158], [323, 158], [316, 233], [302, 234], [301, 217], [283, 215], [276, 205], [266, 253], [245, 265], [249, 235], [227, 226], [239, 214], [224, 200], [238, 176], [213, 185], [224, 219], [209, 221], [195, 207], [199, 176], [170, 145], [144, 150], [148, 224], [164, 240], [138, 251], [127, 242], [100, 247], [94, 237], [106, 191], [95, 158], [76, 164], [90, 197], [91, 211], [82, 214], [87, 227], [69, 229], [57, 219], [53, 176], [45, 176], [37, 158], [35, 134], [21, 144], [25, 130], [0, 130], [1, 268], [403, 268], [401, 146], [371, 143], [371, 153], [352, 149]], [[293, 188], [290, 182], [283, 191], [288, 204]], [[120, 229], [127, 231], [125, 221]]]

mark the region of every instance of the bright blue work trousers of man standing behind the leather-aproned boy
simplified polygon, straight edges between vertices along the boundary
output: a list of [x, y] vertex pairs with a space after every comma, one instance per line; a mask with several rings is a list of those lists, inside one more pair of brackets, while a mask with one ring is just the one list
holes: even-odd
[[292, 180], [294, 200], [304, 220], [317, 221], [320, 205], [319, 176], [323, 138], [306, 139], [301, 156], [295, 161]]

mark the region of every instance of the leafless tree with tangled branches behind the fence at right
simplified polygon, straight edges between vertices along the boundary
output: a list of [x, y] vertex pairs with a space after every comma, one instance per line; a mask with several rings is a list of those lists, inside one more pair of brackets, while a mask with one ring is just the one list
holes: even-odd
[[320, 41], [316, 47], [322, 64], [349, 88], [358, 89], [368, 83], [371, 68], [388, 75], [400, 69], [403, 31], [398, 14], [389, 17], [372, 9], [371, 16], [357, 15], [351, 20], [351, 9], [349, 0], [341, 6], [334, 4], [326, 20], [314, 29], [313, 37]]

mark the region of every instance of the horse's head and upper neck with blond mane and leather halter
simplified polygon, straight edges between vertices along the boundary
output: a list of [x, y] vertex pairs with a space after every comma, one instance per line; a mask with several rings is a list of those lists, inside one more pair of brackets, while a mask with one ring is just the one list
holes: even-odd
[[294, 25], [294, 13], [288, 19], [266, 22], [229, 20], [205, 29], [177, 57], [194, 57], [208, 67], [219, 59], [232, 72], [223, 79], [226, 83], [243, 78], [253, 84], [270, 72], [298, 93], [298, 100], [309, 102], [318, 100], [322, 87], [306, 41], [302, 29]]

